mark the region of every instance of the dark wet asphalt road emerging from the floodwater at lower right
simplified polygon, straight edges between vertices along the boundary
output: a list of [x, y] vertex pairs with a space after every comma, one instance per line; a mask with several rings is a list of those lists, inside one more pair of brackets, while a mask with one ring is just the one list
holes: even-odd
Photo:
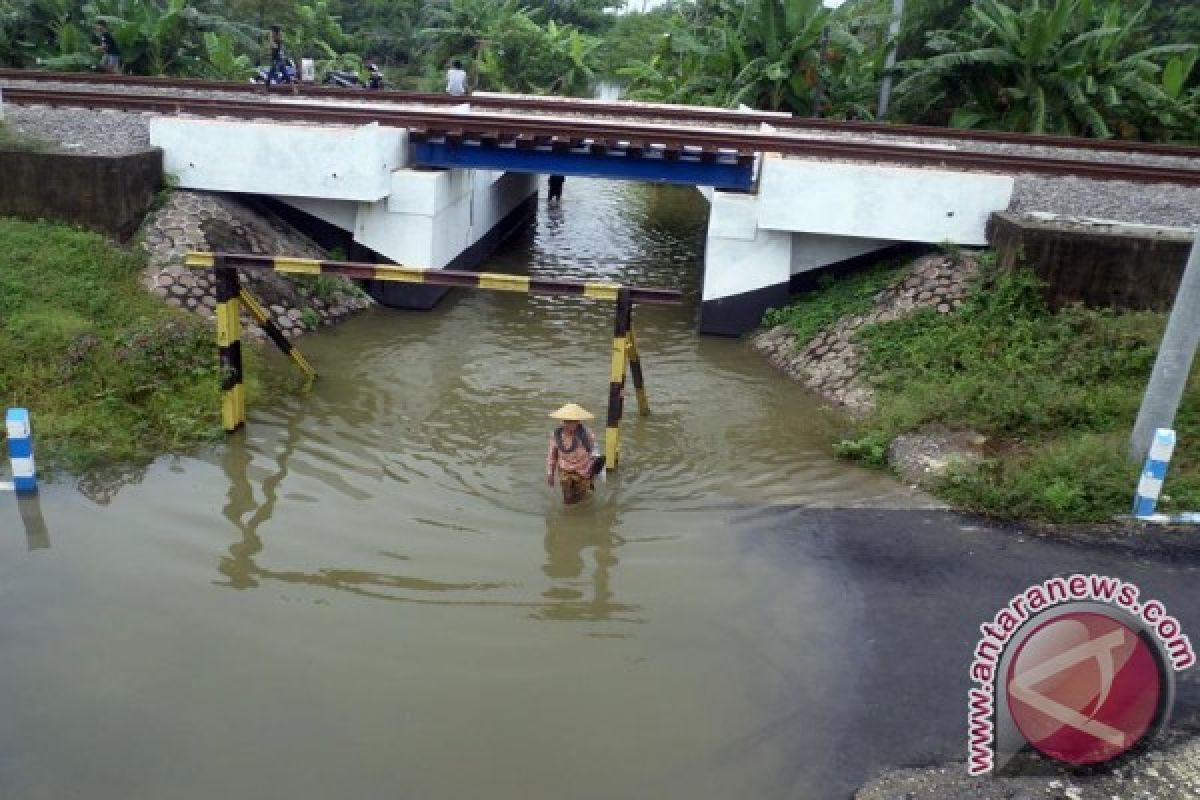
[[[773, 576], [761, 613], [779, 634], [770, 657], [794, 681], [744, 745], [794, 740], [780, 780], [797, 787], [796, 796], [845, 798], [892, 766], [964, 759], [979, 625], [1048, 577], [1096, 572], [1133, 582], [1200, 643], [1200, 558], [1170, 541], [1188, 534], [1096, 545], [950, 512], [808, 509], [748, 511], [737, 529], [748, 563], [762, 571], [755, 575]], [[822, 621], [797, 625], [796, 615]], [[793, 636], [797, 628], [805, 633]], [[1198, 709], [1193, 668], [1178, 675], [1174, 716]]]

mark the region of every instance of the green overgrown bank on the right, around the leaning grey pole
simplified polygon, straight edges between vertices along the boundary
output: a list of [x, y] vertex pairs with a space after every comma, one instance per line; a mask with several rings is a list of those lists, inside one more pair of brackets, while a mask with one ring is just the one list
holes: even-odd
[[[826, 297], [836, 290], [830, 287]], [[883, 465], [900, 433], [977, 431], [989, 437], [985, 461], [953, 468], [934, 486], [940, 497], [1002, 517], [1110, 519], [1133, 500], [1139, 469], [1126, 459], [1128, 437], [1165, 321], [1150, 312], [1052, 313], [1031, 273], [997, 272], [985, 257], [979, 283], [958, 312], [923, 311], [859, 332], [876, 410], [834, 447]], [[1160, 507], [1198, 510], [1195, 371], [1176, 429]]]

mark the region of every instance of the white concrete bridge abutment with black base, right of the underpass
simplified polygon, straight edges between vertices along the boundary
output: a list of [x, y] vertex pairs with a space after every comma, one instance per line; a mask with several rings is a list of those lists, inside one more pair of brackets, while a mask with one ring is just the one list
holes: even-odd
[[[757, 194], [713, 192], [700, 330], [740, 335], [810, 270], [900, 242], [985, 245], [1013, 179], [767, 157]], [[706, 193], [707, 194], [707, 193]]]

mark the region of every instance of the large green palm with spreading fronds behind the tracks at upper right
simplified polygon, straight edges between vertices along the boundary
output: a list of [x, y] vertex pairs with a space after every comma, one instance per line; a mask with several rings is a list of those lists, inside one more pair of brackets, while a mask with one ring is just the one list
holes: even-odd
[[936, 55], [901, 65], [907, 107], [949, 113], [955, 127], [1114, 136], [1151, 109], [1177, 103], [1163, 91], [1158, 61], [1190, 46], [1130, 52], [1148, 4], [978, 0], [956, 31], [934, 31]]

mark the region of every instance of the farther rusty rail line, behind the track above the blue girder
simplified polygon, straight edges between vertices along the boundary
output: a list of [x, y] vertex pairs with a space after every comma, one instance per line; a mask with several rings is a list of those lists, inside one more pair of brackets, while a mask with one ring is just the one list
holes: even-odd
[[98, 85], [148, 86], [156, 89], [182, 89], [194, 91], [227, 91], [236, 94], [277, 94], [304, 97], [326, 97], [338, 100], [356, 100], [373, 102], [422, 103], [428, 106], [457, 106], [463, 102], [475, 108], [488, 109], [524, 109], [530, 112], [566, 112], [590, 114], [593, 116], [631, 118], [647, 120], [686, 120], [701, 122], [720, 122], [736, 126], [770, 125], [786, 131], [826, 131], [834, 133], [857, 133], [872, 136], [912, 137], [922, 139], [948, 139], [961, 142], [984, 142], [1019, 146], [1040, 146], [1074, 150], [1097, 150], [1108, 152], [1142, 154], [1152, 156], [1182, 156], [1200, 158], [1200, 146], [1177, 144], [1154, 144], [1148, 142], [1127, 142], [1118, 139], [1087, 139], [1082, 137], [1062, 137], [1036, 133], [1013, 133], [1007, 131], [977, 131], [965, 128], [947, 128], [932, 125], [904, 125], [892, 122], [864, 122], [853, 120], [805, 119], [782, 116], [769, 112], [736, 112], [707, 107], [665, 106], [636, 102], [600, 102], [581, 97], [496, 97], [472, 95], [467, 98], [451, 97], [445, 94], [341, 89], [295, 84], [293, 86], [270, 86], [260, 84], [234, 83], [228, 80], [203, 80], [194, 78], [160, 78], [148, 76], [109, 76], [77, 72], [44, 72], [35, 70], [0, 70], [2, 80], [58, 82]]

